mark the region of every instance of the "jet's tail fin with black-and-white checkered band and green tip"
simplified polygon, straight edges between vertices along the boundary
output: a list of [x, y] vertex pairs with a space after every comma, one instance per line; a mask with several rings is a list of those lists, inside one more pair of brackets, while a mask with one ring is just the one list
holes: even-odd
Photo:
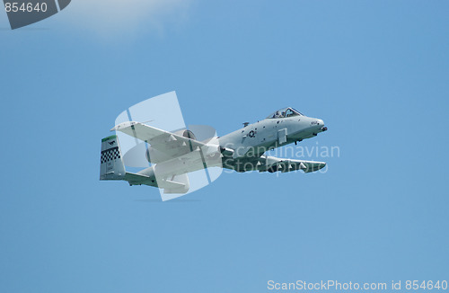
[[123, 180], [125, 174], [119, 138], [114, 135], [101, 139], [100, 180]]

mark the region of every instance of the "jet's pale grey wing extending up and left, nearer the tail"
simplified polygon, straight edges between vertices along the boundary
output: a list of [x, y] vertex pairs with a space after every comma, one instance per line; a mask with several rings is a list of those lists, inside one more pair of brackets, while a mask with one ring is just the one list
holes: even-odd
[[111, 131], [121, 131], [131, 137], [140, 139], [150, 144], [151, 147], [157, 149], [169, 157], [176, 157], [178, 155], [187, 154], [198, 147], [205, 147], [206, 145], [198, 140], [192, 138], [185, 138], [178, 134], [165, 131], [163, 129], [156, 129], [144, 123], [127, 121], [120, 123]]

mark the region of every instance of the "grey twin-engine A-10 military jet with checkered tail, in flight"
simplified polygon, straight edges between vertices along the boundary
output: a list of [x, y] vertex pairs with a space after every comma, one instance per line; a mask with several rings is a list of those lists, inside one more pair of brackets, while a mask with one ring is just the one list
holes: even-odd
[[270, 114], [257, 123], [244, 123], [242, 129], [223, 137], [198, 141], [187, 129], [169, 132], [142, 122], [127, 121], [111, 131], [121, 131], [145, 142], [146, 159], [152, 164], [137, 173], [125, 170], [119, 138], [115, 135], [101, 139], [100, 180], [123, 180], [129, 185], [149, 185], [163, 193], [189, 191], [188, 173], [206, 167], [223, 167], [237, 172], [318, 171], [326, 163], [278, 158], [264, 155], [267, 150], [313, 138], [326, 131], [320, 119], [305, 116], [294, 108]]

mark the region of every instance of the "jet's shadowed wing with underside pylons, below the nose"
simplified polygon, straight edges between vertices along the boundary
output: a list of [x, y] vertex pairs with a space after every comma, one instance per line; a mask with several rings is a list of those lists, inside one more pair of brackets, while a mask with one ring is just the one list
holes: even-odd
[[[303, 170], [304, 173], [311, 173], [318, 171], [326, 166], [324, 162], [314, 162], [314, 161], [304, 161], [304, 160], [294, 160], [294, 159], [283, 159], [275, 156], [264, 156], [260, 157], [262, 162], [259, 166], [261, 172], [268, 171], [272, 172], [291, 172], [296, 170]], [[265, 159], [265, 160], [263, 160]]]

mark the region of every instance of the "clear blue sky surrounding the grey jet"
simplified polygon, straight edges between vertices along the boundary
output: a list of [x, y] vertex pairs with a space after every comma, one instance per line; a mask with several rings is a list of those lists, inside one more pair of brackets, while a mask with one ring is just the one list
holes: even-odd
[[[117, 22], [88, 7], [16, 31], [0, 13], [1, 292], [449, 279], [447, 1], [172, 1]], [[293, 106], [329, 127], [302, 144], [340, 156], [169, 202], [100, 182], [116, 116], [172, 90], [219, 135]]]

